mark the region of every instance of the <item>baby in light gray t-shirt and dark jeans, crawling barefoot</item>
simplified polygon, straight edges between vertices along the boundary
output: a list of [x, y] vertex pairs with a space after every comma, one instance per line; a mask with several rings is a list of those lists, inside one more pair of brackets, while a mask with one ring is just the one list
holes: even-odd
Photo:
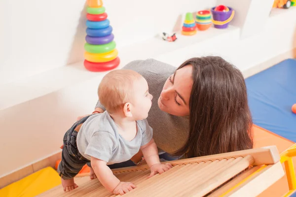
[[98, 96], [106, 111], [82, 118], [64, 135], [58, 167], [64, 191], [78, 187], [74, 176], [89, 161], [99, 181], [113, 194], [133, 190], [136, 186], [121, 182], [107, 164], [125, 162], [139, 149], [150, 167], [150, 176], [172, 167], [159, 161], [152, 129], [146, 120], [152, 95], [142, 75], [133, 70], [113, 70], [103, 77]]

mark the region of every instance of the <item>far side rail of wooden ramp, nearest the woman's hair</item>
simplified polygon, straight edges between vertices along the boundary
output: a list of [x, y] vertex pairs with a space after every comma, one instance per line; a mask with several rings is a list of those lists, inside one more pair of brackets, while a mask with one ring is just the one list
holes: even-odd
[[[184, 160], [176, 160], [176, 161], [163, 162], [163, 163], [169, 163], [172, 165], [193, 164], [193, 163], [222, 160], [222, 159], [228, 160], [230, 158], [246, 157], [247, 155], [251, 155], [254, 158], [254, 163], [251, 165], [275, 164], [278, 161], [280, 161], [280, 155], [277, 150], [277, 147], [266, 146], [266, 147], [243, 150], [243, 151], [222, 153], [217, 155], [209, 155], [209, 156], [189, 158]], [[112, 171], [120, 172], [120, 171], [129, 171], [129, 170], [136, 170], [136, 169], [139, 170], [139, 169], [148, 169], [148, 168], [149, 168], [148, 165], [145, 164], [145, 165], [138, 165], [138, 166], [132, 166], [132, 167], [112, 169]]]

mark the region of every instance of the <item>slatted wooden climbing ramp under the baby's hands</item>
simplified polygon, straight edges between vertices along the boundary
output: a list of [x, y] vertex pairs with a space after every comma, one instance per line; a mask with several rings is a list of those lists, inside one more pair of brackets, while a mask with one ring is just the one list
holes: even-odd
[[[125, 194], [125, 197], [200, 197], [218, 187], [220, 188], [213, 192], [211, 197], [221, 195], [252, 197], [257, 196], [284, 175], [279, 160], [276, 146], [269, 146], [171, 161], [168, 163], [174, 166], [172, 169], [162, 174], [156, 174], [149, 179], [147, 179], [149, 174], [147, 165], [113, 169], [112, 171], [120, 180], [131, 181], [137, 185], [137, 188]], [[260, 167], [260, 165], [263, 166]], [[245, 170], [246, 168], [249, 169]], [[236, 176], [237, 174], [239, 175]], [[232, 180], [226, 183], [231, 178]], [[61, 186], [58, 186], [41, 196], [115, 197], [98, 180], [90, 181], [88, 177], [76, 177], [76, 179], [77, 183], [81, 185], [67, 194], [63, 192]]]

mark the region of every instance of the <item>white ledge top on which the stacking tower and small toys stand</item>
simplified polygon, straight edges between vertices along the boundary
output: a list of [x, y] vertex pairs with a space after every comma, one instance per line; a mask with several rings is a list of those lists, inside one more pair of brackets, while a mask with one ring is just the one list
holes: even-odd
[[[207, 31], [198, 31], [193, 36], [177, 33], [175, 42], [167, 42], [160, 37], [118, 48], [121, 63], [118, 68], [133, 60], [156, 58], [162, 54], [198, 47], [199, 43], [211, 42], [212, 38], [223, 36], [222, 39], [232, 39], [233, 33], [239, 35], [239, 28], [229, 26], [227, 29], [210, 28]], [[229, 36], [228, 36], [229, 35]], [[82, 46], [81, 46], [82, 47]], [[100, 80], [106, 72], [90, 72], [79, 62], [69, 66], [55, 68], [26, 79], [0, 86], [0, 110], [38, 98], [46, 94], [81, 83], [89, 79]]]

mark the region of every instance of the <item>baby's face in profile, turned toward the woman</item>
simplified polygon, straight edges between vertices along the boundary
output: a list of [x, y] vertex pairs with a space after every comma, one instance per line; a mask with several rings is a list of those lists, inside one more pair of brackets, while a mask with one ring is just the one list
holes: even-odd
[[132, 114], [136, 120], [143, 120], [148, 117], [153, 96], [148, 92], [148, 84], [144, 77], [136, 80], [133, 88]]

